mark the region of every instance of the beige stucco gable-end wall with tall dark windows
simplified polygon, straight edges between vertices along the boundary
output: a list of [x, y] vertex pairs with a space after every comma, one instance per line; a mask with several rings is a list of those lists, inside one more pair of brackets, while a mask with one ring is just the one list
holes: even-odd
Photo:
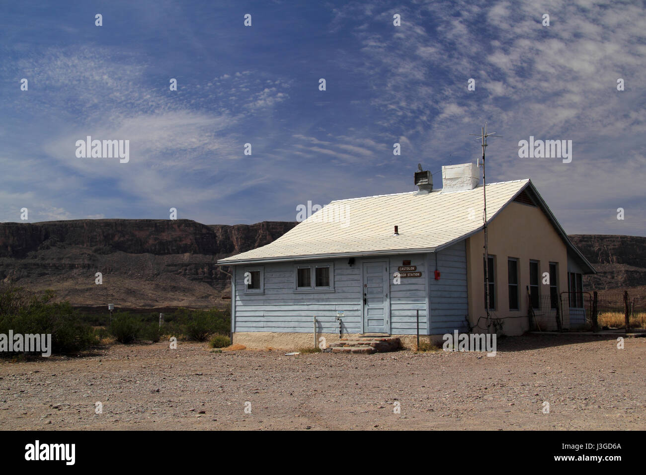
[[[469, 319], [475, 324], [478, 317], [485, 316], [485, 277], [483, 256], [485, 255], [485, 235], [480, 231], [466, 240], [467, 285]], [[505, 335], [521, 335], [529, 328], [528, 298], [526, 286], [529, 285], [529, 261], [539, 261], [539, 293], [549, 295], [549, 286], [543, 285], [543, 273], [549, 272], [550, 262], [557, 262], [558, 288], [567, 291], [567, 248], [543, 212], [537, 207], [510, 203], [488, 226], [489, 255], [495, 256], [495, 302], [493, 317], [524, 317], [505, 319]], [[508, 300], [507, 258], [518, 259], [519, 307], [510, 311]], [[567, 326], [567, 309], [564, 309], [563, 324]], [[485, 326], [485, 320], [480, 321]], [[483, 328], [473, 332], [483, 333]]]

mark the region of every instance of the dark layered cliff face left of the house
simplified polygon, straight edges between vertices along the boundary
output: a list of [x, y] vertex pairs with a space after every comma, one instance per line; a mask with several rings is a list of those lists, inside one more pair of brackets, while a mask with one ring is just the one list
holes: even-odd
[[[297, 223], [206, 226], [191, 220], [0, 224], [0, 279], [50, 288], [75, 305], [225, 306], [218, 259], [269, 244]], [[102, 274], [103, 284], [95, 283]]]

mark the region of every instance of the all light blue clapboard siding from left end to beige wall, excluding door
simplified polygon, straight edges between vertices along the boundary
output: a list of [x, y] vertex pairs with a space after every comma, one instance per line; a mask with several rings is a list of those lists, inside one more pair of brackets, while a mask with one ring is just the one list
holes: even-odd
[[[375, 260], [373, 258], [371, 260]], [[416, 313], [419, 310], [419, 332], [433, 335], [467, 330], [468, 312], [466, 291], [465, 243], [454, 244], [437, 254], [441, 279], [435, 280], [435, 255], [412, 254], [384, 257], [388, 262], [390, 292], [390, 332], [414, 335]], [[404, 277], [394, 284], [394, 274], [403, 260], [417, 266], [421, 277]], [[337, 333], [337, 311], [344, 311], [343, 332], [362, 331], [362, 259], [348, 266], [348, 259], [334, 259], [333, 292], [300, 292], [294, 289], [295, 263], [280, 262], [251, 265], [264, 270], [264, 293], [246, 293], [245, 266], [236, 268], [233, 291], [235, 332], [299, 332], [313, 331], [313, 317], [317, 317], [317, 332]], [[307, 262], [317, 264], [318, 262]], [[300, 263], [299, 263], [300, 264]], [[430, 315], [427, 309], [430, 307]], [[430, 325], [429, 325], [430, 322]]]

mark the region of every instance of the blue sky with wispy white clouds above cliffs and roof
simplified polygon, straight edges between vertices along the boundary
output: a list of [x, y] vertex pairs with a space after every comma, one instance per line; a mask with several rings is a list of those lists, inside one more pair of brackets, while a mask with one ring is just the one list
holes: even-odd
[[[413, 191], [417, 163], [441, 187], [442, 165], [479, 156], [468, 134], [488, 121], [503, 136], [489, 142], [489, 182], [531, 178], [568, 233], [646, 235], [642, 2], [2, 10], [1, 221], [23, 207], [29, 222], [168, 218], [171, 207], [205, 224], [295, 220], [308, 200]], [[129, 140], [129, 162], [78, 158], [86, 136]], [[572, 140], [572, 162], [519, 158], [530, 136]]]

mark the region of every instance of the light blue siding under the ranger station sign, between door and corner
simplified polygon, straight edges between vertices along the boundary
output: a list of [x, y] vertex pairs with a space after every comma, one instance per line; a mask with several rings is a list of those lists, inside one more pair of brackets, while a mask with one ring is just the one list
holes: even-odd
[[[402, 277], [400, 284], [394, 284], [395, 272], [402, 265], [403, 260], [410, 260], [411, 266], [417, 266], [416, 271], [421, 272], [421, 277]], [[415, 335], [416, 311], [419, 310], [419, 333], [428, 334], [426, 324], [426, 308], [428, 305], [428, 290], [426, 289], [426, 255], [411, 254], [397, 255], [389, 259], [390, 262], [390, 332], [393, 335]]]

